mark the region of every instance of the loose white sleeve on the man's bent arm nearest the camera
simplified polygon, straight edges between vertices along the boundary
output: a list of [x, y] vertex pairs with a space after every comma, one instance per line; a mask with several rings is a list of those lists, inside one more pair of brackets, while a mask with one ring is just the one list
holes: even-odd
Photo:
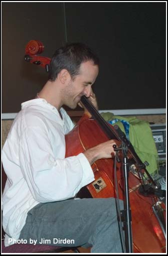
[[[59, 152], [57, 145], [56, 150]], [[19, 159], [30, 191], [39, 202], [72, 198], [83, 186], [94, 180], [84, 154], [57, 158], [48, 131], [39, 126], [25, 129], [20, 140]]]

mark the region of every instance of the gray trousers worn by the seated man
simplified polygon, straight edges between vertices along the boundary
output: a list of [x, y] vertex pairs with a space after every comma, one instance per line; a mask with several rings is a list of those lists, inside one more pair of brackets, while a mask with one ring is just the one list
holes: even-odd
[[28, 212], [22, 238], [36, 244], [92, 246], [92, 253], [122, 252], [114, 198], [39, 203]]

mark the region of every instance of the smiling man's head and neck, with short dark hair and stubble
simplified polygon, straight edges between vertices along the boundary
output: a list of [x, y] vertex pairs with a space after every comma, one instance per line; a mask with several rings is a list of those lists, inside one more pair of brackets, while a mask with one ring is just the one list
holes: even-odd
[[58, 109], [75, 108], [83, 95], [92, 94], [98, 72], [99, 59], [90, 48], [81, 43], [66, 45], [53, 55], [49, 81], [40, 94]]

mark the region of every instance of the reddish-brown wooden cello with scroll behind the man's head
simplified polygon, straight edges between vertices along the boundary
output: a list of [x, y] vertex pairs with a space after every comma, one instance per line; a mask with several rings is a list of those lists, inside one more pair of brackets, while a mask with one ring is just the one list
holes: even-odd
[[[31, 40], [25, 48], [25, 60], [40, 65], [49, 71], [50, 58], [36, 55], [44, 51], [44, 45], [37, 40]], [[120, 145], [122, 138], [114, 127], [108, 124], [87, 100], [81, 98], [82, 103], [91, 113], [91, 117], [84, 114], [74, 129], [65, 136], [66, 156], [75, 156], [109, 139], [117, 141]], [[73, 143], [72, 143], [73, 141]], [[129, 160], [136, 166], [129, 171], [129, 200], [132, 222], [132, 245], [134, 253], [165, 253], [165, 204], [160, 201], [154, 189], [145, 191], [144, 173], [149, 180], [149, 187], [157, 188], [157, 184], [136, 155], [133, 146], [128, 146]], [[116, 180], [114, 179], [114, 164], [116, 167]], [[95, 181], [82, 188], [78, 195], [80, 198], [116, 198], [116, 186], [119, 199], [124, 200], [124, 184], [122, 163], [114, 163], [114, 159], [99, 159], [92, 165]], [[150, 191], [150, 192], [148, 192]], [[101, 207], [101, 205], [100, 205]], [[87, 210], [87, 209], [86, 209]]]

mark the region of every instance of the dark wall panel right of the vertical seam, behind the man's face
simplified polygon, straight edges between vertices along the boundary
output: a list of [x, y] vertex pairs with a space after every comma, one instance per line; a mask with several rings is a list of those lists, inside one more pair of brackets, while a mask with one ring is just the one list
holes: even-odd
[[66, 3], [68, 42], [99, 55], [100, 109], [165, 107], [165, 3]]

